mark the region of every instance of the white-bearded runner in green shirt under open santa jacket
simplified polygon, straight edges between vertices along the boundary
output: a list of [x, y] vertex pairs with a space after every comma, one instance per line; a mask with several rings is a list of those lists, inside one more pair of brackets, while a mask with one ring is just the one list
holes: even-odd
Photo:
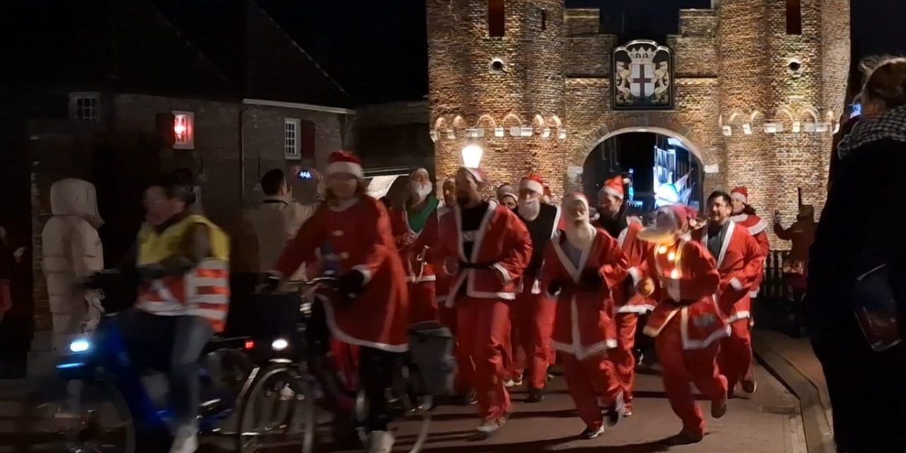
[[[404, 207], [390, 209], [390, 227], [409, 281], [409, 322], [439, 321], [434, 265], [427, 260], [431, 242], [418, 241], [430, 222], [437, 222], [438, 198], [427, 169], [409, 176], [409, 199]], [[435, 228], [436, 231], [436, 228]], [[419, 244], [416, 244], [419, 242]]]

